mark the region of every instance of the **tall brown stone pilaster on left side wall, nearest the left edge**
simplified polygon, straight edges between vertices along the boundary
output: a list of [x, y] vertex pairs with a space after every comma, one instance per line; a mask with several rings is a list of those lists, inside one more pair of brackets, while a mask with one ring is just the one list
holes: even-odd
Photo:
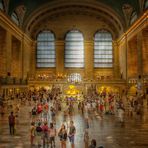
[[6, 32], [6, 71], [11, 73], [11, 57], [12, 57], [12, 35]]

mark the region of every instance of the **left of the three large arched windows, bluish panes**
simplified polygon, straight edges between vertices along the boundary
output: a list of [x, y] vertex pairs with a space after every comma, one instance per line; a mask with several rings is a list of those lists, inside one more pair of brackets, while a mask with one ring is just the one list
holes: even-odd
[[55, 36], [51, 31], [42, 31], [37, 36], [37, 67], [55, 67]]

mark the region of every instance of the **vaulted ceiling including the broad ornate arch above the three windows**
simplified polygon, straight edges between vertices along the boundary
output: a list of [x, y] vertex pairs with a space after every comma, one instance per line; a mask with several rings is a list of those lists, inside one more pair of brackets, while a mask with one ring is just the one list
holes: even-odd
[[[20, 27], [30, 34], [53, 18], [66, 15], [94, 17], [110, 26], [115, 34], [123, 33], [130, 24], [131, 15], [140, 16], [145, 0], [9, 0], [8, 15], [15, 11]], [[142, 3], [141, 3], [142, 2]]]

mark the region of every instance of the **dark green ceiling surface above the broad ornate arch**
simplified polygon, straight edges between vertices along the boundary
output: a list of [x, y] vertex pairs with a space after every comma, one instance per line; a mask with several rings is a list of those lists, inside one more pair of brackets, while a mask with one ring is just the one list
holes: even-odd
[[[62, 0], [10, 0], [9, 14], [11, 14], [17, 6], [24, 5], [27, 8], [26, 16], [29, 16], [34, 10], [38, 9], [42, 5], [49, 3], [51, 1], [62, 2]], [[79, 0], [79, 1], [87, 1], [87, 0]], [[122, 6], [124, 4], [131, 5], [137, 13], [140, 10], [139, 0], [96, 0], [96, 1], [104, 3], [105, 5], [115, 10], [121, 16], [123, 15]]]

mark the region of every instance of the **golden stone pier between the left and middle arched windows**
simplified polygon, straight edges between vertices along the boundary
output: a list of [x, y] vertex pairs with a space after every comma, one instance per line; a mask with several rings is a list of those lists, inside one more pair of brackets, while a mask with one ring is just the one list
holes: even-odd
[[56, 41], [56, 74], [64, 72], [64, 41]]

